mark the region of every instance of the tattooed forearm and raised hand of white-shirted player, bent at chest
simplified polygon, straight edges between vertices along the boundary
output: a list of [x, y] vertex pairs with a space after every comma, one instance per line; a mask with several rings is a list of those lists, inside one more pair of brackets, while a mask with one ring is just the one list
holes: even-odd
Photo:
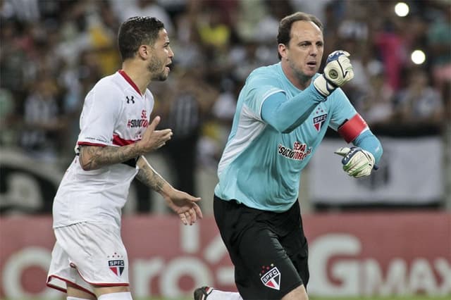
[[96, 170], [105, 165], [123, 163], [159, 149], [172, 137], [172, 130], [155, 130], [160, 117], [154, 118], [142, 139], [127, 146], [80, 146], [80, 165], [83, 170]]

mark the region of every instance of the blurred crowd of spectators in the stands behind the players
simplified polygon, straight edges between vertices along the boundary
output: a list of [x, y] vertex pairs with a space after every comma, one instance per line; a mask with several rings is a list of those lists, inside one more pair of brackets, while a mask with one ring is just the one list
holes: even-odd
[[[355, 77], [344, 89], [371, 126], [443, 127], [451, 2], [404, 2], [400, 17], [390, 0], [0, 0], [0, 146], [66, 168], [85, 94], [121, 68], [116, 35], [134, 15], [159, 18], [171, 37], [171, 75], [150, 89], [160, 127], [175, 132], [161, 152], [186, 192], [199, 163], [216, 168], [240, 87], [252, 69], [278, 62], [278, 21], [295, 11], [322, 20], [325, 56], [352, 55]], [[426, 54], [420, 65], [415, 49]]]

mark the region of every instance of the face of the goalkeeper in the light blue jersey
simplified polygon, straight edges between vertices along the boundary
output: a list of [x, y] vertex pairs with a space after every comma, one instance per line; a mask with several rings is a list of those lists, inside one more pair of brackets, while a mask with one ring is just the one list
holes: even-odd
[[297, 78], [311, 78], [321, 65], [323, 45], [323, 32], [317, 25], [309, 21], [296, 21], [291, 27], [290, 43], [283, 47], [283, 60]]

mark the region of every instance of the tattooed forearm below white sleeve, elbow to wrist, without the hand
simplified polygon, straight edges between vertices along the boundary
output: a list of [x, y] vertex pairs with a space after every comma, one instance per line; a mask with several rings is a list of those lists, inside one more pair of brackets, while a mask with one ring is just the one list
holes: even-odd
[[105, 165], [123, 163], [140, 156], [134, 145], [129, 146], [80, 146], [80, 165], [83, 170], [96, 170]]

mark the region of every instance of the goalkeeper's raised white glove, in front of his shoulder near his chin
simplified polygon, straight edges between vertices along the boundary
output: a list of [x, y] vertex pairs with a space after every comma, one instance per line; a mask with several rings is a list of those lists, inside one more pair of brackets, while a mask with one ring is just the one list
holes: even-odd
[[347, 51], [333, 51], [327, 57], [324, 73], [315, 78], [313, 84], [323, 96], [329, 96], [337, 87], [345, 85], [354, 77]]

